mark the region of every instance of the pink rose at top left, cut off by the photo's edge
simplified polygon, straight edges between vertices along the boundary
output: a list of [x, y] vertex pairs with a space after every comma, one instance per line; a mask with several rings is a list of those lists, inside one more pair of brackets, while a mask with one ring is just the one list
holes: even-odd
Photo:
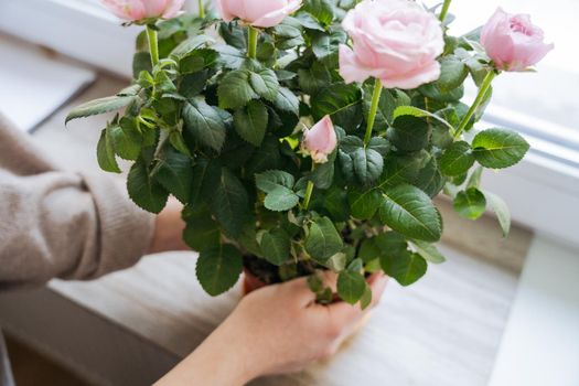
[[103, 4], [124, 20], [171, 19], [179, 14], [185, 0], [101, 0]]

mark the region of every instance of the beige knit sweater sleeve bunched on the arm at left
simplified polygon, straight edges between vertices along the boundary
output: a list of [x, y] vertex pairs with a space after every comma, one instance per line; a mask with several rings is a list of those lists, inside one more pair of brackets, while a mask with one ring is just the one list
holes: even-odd
[[153, 216], [107, 175], [0, 170], [0, 289], [95, 279], [135, 265]]

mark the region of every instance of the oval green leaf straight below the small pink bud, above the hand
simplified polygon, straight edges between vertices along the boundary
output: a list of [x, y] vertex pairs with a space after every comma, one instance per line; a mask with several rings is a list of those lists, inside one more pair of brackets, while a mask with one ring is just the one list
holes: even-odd
[[311, 224], [305, 250], [315, 261], [323, 264], [342, 248], [342, 237], [330, 218], [322, 217]]

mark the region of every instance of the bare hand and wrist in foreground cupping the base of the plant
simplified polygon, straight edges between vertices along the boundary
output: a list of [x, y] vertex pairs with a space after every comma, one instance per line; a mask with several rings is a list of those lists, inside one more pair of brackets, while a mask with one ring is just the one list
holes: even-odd
[[[369, 282], [374, 307], [387, 279], [373, 276]], [[318, 304], [305, 279], [262, 288], [244, 298], [158, 386], [237, 386], [262, 375], [301, 371], [332, 356], [368, 310], [344, 302]]]

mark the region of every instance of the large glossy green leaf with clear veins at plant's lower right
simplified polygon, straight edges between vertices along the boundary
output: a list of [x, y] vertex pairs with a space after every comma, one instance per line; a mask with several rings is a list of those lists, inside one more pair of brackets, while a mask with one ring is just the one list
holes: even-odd
[[442, 235], [441, 217], [430, 197], [412, 185], [397, 185], [384, 191], [379, 215], [384, 224], [405, 236], [438, 242]]

